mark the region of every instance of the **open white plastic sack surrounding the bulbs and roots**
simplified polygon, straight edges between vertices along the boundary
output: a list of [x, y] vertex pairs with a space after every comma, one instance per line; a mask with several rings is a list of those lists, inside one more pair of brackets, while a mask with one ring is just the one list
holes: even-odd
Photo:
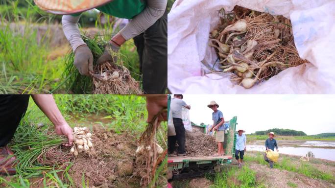
[[[217, 58], [208, 42], [218, 10], [231, 11], [235, 5], [289, 18], [299, 56], [311, 63], [250, 89], [209, 73], [201, 62], [211, 66]], [[334, 12], [335, 0], [176, 0], [168, 14], [168, 88], [182, 94], [335, 93]]]

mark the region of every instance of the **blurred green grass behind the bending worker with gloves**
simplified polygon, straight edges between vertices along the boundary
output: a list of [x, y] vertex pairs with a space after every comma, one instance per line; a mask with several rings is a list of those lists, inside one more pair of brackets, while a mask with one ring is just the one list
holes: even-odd
[[[60, 28], [55, 26], [55, 15], [34, 5], [17, 7], [18, 2], [0, 0], [0, 94], [71, 93], [66, 83], [75, 80], [62, 76], [68, 69], [65, 61], [70, 47], [66, 41], [53, 44], [63, 35], [61, 30], [53, 32], [55, 27]], [[36, 15], [41, 18], [36, 20]], [[113, 24], [96, 22], [95, 28], [99, 35], [109, 38], [116, 32]], [[81, 28], [82, 32], [86, 29]], [[122, 45], [120, 57], [132, 77], [141, 81], [139, 57], [132, 40]]]

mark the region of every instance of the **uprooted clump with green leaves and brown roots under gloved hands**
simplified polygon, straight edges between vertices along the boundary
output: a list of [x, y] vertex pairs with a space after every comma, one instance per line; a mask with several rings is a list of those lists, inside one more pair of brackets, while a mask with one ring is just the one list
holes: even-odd
[[[96, 64], [106, 44], [101, 36], [90, 38], [83, 35], [82, 38], [92, 51], [94, 72], [90, 73], [91, 76], [80, 75], [73, 66], [74, 54], [71, 52], [65, 60], [66, 71], [63, 73], [68, 90], [75, 94], [142, 94], [139, 82], [131, 77], [120, 57], [118, 62]], [[120, 56], [120, 53], [112, 53], [112, 56]]]

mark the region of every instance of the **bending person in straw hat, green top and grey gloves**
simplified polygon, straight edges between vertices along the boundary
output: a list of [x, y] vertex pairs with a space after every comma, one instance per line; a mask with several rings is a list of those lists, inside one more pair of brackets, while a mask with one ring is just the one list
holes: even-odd
[[[93, 55], [80, 36], [78, 21], [84, 11], [96, 8], [108, 15], [129, 19], [119, 33], [112, 36], [97, 64], [117, 62], [115, 54], [122, 44], [134, 39], [140, 56], [144, 94], [164, 94], [167, 87], [168, 0], [34, 0], [43, 10], [63, 14], [62, 25], [69, 40], [74, 65], [82, 75], [93, 73]], [[113, 57], [112, 57], [113, 56]]]

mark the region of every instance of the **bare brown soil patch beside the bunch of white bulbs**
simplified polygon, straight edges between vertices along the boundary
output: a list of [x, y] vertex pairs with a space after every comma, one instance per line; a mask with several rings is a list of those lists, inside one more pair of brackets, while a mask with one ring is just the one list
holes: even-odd
[[91, 154], [80, 153], [70, 168], [75, 186], [82, 187], [84, 175], [92, 188], [140, 187], [140, 178], [133, 176], [137, 148], [135, 138], [99, 127], [94, 127], [93, 133], [94, 148]]

